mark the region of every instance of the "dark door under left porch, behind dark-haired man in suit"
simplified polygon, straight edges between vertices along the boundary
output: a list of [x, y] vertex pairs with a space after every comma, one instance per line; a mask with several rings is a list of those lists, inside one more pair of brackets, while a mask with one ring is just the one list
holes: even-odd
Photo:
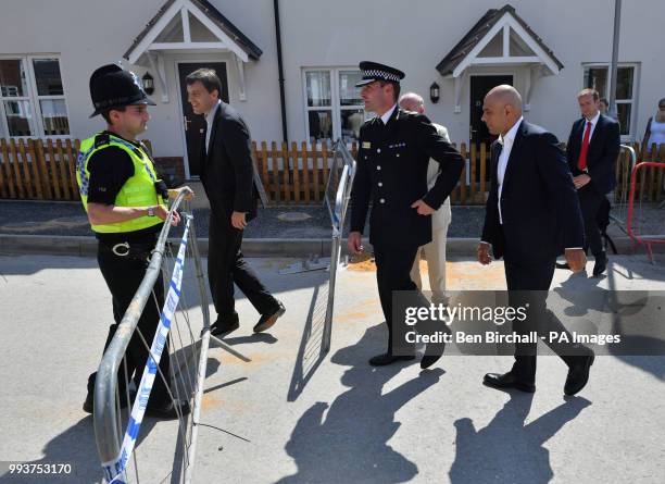
[[222, 80], [222, 100], [228, 102], [228, 76], [225, 62], [187, 62], [178, 64], [178, 78], [180, 80], [180, 99], [183, 100], [183, 123], [185, 124], [185, 138], [187, 141], [187, 162], [189, 176], [198, 177], [201, 173], [201, 137], [205, 133], [205, 119], [202, 114], [195, 114], [187, 102], [187, 83], [185, 78], [197, 69], [209, 67], [217, 73]]

